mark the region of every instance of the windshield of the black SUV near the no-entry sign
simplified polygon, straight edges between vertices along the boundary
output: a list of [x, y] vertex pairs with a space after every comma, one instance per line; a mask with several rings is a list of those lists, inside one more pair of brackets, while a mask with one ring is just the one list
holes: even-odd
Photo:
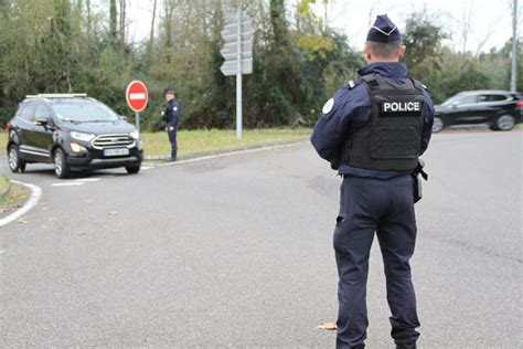
[[118, 120], [118, 115], [102, 103], [92, 101], [53, 101], [52, 107], [56, 116], [72, 123], [106, 123]]

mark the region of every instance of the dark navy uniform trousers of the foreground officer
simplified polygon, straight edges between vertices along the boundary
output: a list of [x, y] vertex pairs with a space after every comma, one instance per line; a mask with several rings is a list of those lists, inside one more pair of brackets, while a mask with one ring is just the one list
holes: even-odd
[[419, 337], [409, 264], [416, 242], [413, 178], [344, 177], [333, 237], [339, 274], [337, 348], [364, 348], [369, 256], [374, 234], [385, 268], [391, 335], [398, 348], [415, 346]]

